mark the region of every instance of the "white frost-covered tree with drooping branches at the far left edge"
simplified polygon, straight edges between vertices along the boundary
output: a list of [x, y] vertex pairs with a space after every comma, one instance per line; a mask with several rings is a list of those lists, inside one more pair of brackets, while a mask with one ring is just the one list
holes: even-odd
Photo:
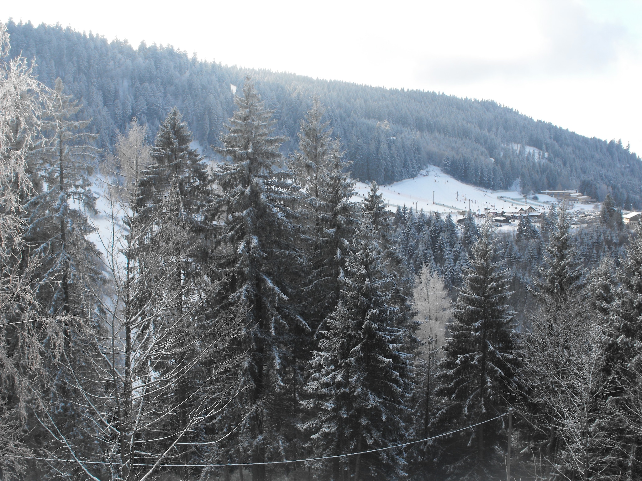
[[0, 23], [0, 472], [19, 479], [28, 457], [37, 454], [26, 427], [33, 411], [46, 409], [48, 360], [60, 353], [62, 330], [58, 319], [40, 312], [34, 289], [39, 257], [24, 239], [25, 203], [36, 194], [28, 155], [49, 107], [47, 89], [26, 58], [6, 60], [9, 55]]

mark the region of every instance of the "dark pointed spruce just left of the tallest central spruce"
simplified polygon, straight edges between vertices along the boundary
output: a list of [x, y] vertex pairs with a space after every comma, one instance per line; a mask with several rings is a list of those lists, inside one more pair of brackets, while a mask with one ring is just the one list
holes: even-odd
[[[212, 179], [203, 158], [191, 148], [192, 139], [192, 133], [180, 112], [173, 108], [160, 124], [150, 151], [151, 162], [144, 165], [137, 192], [137, 215], [143, 216], [141, 221], [148, 219], [142, 249], [146, 246], [155, 248], [159, 242], [157, 239], [164, 239], [166, 232], [163, 230], [168, 228], [161, 228], [161, 224], [157, 223], [166, 224], [173, 219], [175, 228], [184, 231], [180, 241], [165, 241], [173, 252], [166, 252], [164, 267], [174, 276], [164, 278], [162, 283], [162, 298], [176, 299], [174, 317], [168, 322], [182, 326], [178, 330], [186, 333], [183, 342], [175, 345], [174, 350], [164, 357], [164, 362], [168, 369], [169, 366], [177, 366], [178, 371], [191, 371], [191, 376], [181, 377], [180, 382], [174, 379], [166, 387], [168, 406], [176, 406], [165, 419], [171, 432], [183, 432], [191, 424], [189, 413], [194, 409], [193, 403], [200, 402], [193, 396], [194, 392], [198, 392], [200, 383], [193, 360], [201, 357], [200, 346], [193, 336], [198, 337], [198, 332], [202, 330], [211, 330], [208, 326], [204, 327], [208, 308], [203, 300], [209, 296], [211, 289], [206, 280], [209, 275], [206, 239], [209, 235], [207, 212], [212, 201]], [[155, 266], [148, 267], [155, 269]], [[157, 289], [155, 291], [158, 292]], [[144, 295], [144, 292], [141, 294]], [[150, 307], [153, 312], [153, 305]], [[169, 315], [168, 310], [164, 315]], [[191, 438], [193, 434], [187, 437]], [[189, 439], [184, 439], [186, 441]], [[181, 453], [181, 461], [185, 463], [191, 459], [190, 451], [193, 452], [184, 444], [175, 447], [175, 451]]]

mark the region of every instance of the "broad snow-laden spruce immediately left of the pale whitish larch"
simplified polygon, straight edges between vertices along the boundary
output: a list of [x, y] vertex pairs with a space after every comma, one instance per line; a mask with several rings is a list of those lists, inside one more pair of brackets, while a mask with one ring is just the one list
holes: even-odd
[[[412, 355], [404, 351], [408, 329], [395, 305], [392, 276], [365, 216], [342, 280], [340, 302], [320, 332], [309, 362], [303, 402], [313, 455], [358, 453], [404, 439], [404, 403], [412, 389]], [[334, 480], [397, 479], [404, 476], [401, 450], [357, 454], [334, 463], [313, 463]]]

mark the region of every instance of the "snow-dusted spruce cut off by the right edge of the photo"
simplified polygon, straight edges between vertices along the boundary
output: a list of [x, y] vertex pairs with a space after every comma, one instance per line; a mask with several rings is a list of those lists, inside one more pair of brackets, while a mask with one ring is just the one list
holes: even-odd
[[642, 477], [642, 228], [631, 237], [626, 253], [616, 271], [617, 283], [602, 274], [601, 283], [608, 286], [593, 296], [605, 311], [600, 429], [614, 437], [604, 452], [612, 460], [608, 474], [634, 480]]

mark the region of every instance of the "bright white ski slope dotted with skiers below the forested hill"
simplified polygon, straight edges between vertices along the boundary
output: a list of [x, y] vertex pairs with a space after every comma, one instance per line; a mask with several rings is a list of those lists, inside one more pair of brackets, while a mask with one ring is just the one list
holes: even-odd
[[[358, 182], [357, 195], [362, 198], [367, 195], [370, 186]], [[517, 210], [524, 207], [524, 196], [517, 190], [497, 191], [475, 187], [444, 174], [439, 167], [430, 165], [419, 176], [401, 180], [391, 185], [381, 185], [379, 189], [390, 210], [397, 206], [416, 210], [437, 211], [455, 214], [456, 210], [473, 210], [483, 214], [484, 208], [491, 210]], [[434, 202], [433, 203], [433, 196]], [[550, 196], [537, 194], [538, 201], [528, 198], [528, 205], [537, 210], [546, 210], [551, 202], [556, 202]], [[576, 205], [576, 209], [592, 208], [592, 205]]]

